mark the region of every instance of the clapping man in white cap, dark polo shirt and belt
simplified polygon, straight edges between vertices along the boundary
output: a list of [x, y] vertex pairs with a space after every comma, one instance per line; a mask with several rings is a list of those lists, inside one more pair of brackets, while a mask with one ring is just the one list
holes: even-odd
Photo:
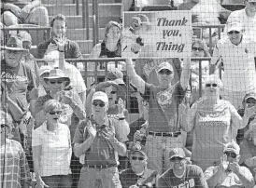
[[107, 94], [98, 91], [92, 96], [92, 115], [79, 123], [74, 138], [76, 156], [82, 157], [78, 188], [121, 188], [117, 154], [126, 154], [121, 138], [120, 122], [107, 117]]

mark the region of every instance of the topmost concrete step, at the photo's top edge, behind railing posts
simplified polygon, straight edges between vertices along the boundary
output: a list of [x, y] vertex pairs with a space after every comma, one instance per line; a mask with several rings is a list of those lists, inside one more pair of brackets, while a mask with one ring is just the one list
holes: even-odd
[[[56, 14], [64, 14], [65, 16], [76, 16], [77, 7], [75, 4], [65, 4], [63, 6], [45, 5], [47, 7], [49, 16]], [[79, 4], [79, 15], [82, 15], [82, 5]], [[121, 4], [99, 4], [98, 6], [99, 16], [121, 16]], [[92, 15], [92, 4], [89, 6], [89, 15]]]

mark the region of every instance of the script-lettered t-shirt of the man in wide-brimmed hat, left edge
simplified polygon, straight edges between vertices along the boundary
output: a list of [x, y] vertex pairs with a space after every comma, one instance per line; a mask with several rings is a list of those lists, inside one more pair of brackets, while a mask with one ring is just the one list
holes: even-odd
[[27, 91], [36, 86], [31, 69], [22, 62], [17, 67], [10, 67], [6, 60], [1, 60], [1, 81], [7, 85], [9, 97], [25, 111], [28, 107]]

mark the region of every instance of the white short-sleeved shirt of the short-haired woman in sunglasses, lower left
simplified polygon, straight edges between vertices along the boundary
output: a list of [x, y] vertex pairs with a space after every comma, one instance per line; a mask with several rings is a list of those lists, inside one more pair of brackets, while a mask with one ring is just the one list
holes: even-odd
[[41, 146], [41, 160], [39, 175], [67, 175], [71, 174], [71, 140], [69, 128], [59, 123], [55, 132], [47, 129], [46, 122], [32, 133], [32, 146]]

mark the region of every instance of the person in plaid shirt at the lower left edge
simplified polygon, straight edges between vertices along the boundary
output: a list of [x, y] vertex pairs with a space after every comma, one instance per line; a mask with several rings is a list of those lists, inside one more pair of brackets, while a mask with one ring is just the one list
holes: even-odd
[[1, 110], [1, 187], [29, 188], [30, 171], [21, 143], [8, 139], [13, 128], [9, 114]]

